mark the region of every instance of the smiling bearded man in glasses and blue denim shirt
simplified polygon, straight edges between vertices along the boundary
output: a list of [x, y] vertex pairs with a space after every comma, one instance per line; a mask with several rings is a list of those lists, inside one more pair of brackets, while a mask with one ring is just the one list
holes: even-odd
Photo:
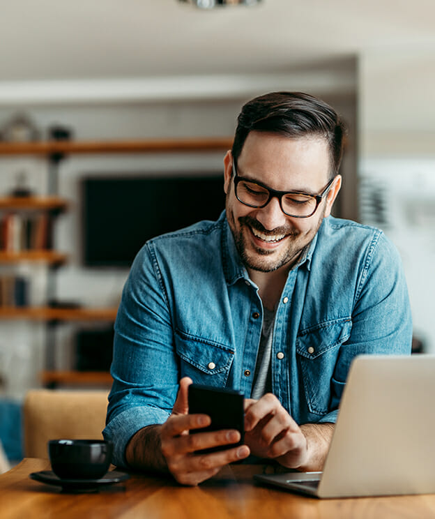
[[[220, 219], [139, 252], [115, 326], [104, 434], [116, 464], [188, 485], [250, 454], [319, 470], [353, 357], [410, 352], [397, 251], [330, 216], [343, 134], [312, 96], [255, 98], [224, 158]], [[235, 430], [190, 434], [210, 423], [188, 414], [192, 381], [244, 392], [243, 446]], [[198, 452], [217, 445], [229, 447]]]

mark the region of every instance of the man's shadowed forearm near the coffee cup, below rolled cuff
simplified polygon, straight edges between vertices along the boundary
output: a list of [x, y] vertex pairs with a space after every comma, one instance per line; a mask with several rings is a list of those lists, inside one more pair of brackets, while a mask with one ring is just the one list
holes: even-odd
[[125, 458], [132, 469], [168, 472], [160, 445], [161, 427], [144, 427], [131, 437], [125, 449]]

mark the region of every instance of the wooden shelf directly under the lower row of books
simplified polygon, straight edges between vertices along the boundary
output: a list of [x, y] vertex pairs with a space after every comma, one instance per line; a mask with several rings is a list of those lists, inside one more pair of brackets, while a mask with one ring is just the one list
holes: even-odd
[[118, 308], [51, 308], [0, 307], [0, 319], [29, 319], [31, 321], [109, 321], [116, 319]]

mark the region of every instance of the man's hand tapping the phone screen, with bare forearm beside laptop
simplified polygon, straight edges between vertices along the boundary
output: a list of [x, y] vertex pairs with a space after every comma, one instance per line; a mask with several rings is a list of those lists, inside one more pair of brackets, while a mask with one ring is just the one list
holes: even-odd
[[245, 400], [245, 444], [255, 456], [292, 469], [321, 470], [332, 433], [332, 423], [298, 426], [271, 393]]

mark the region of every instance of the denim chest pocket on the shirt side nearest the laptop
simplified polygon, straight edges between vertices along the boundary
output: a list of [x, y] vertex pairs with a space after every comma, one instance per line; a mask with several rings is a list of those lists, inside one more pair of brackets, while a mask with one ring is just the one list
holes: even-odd
[[312, 326], [296, 338], [298, 371], [307, 407], [314, 414], [330, 412], [332, 401], [337, 403], [337, 393], [341, 395], [342, 386], [333, 375], [340, 346], [351, 335], [351, 329], [351, 319], [345, 317]]

